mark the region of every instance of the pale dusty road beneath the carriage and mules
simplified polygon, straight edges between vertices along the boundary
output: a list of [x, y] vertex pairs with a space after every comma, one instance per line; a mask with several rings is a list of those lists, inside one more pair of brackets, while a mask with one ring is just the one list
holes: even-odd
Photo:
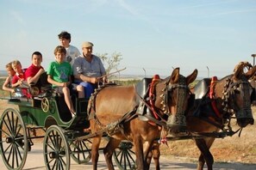
[[[42, 143], [34, 143], [32, 146], [32, 150], [28, 152], [28, 157], [26, 164], [24, 166], [24, 170], [46, 170], [43, 158], [43, 144]], [[170, 169], [178, 169], [178, 170], [191, 170], [196, 169], [197, 162], [186, 161], [183, 158], [172, 157], [171, 160], [167, 160], [164, 156], [161, 156], [160, 159], [161, 170], [170, 170]], [[7, 168], [4, 166], [2, 157], [0, 160], [0, 169], [6, 170]], [[71, 159], [71, 169], [79, 170], [79, 169], [92, 169], [91, 162], [86, 165], [78, 165], [75, 161]], [[98, 170], [107, 170], [108, 167], [104, 161], [103, 153], [100, 153], [100, 158], [98, 162]], [[115, 169], [118, 169], [117, 167]], [[154, 169], [154, 165], [151, 165], [151, 169]], [[206, 168], [205, 168], [206, 169]], [[215, 163], [214, 170], [255, 170], [256, 164], [240, 164], [240, 163]]]

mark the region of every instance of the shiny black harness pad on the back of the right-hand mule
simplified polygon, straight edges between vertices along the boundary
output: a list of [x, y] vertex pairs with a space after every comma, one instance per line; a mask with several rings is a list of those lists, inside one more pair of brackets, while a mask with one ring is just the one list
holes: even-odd
[[202, 99], [209, 90], [210, 78], [204, 78], [194, 88], [195, 99]]

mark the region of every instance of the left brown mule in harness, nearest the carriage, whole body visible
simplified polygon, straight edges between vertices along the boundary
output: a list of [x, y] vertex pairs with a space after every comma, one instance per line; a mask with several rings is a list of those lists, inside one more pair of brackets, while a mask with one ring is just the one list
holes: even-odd
[[[91, 96], [92, 139], [91, 161], [93, 169], [97, 169], [98, 149], [103, 131], [110, 136], [109, 142], [103, 149], [109, 169], [114, 169], [111, 157], [113, 151], [122, 140], [134, 144], [136, 167], [148, 169], [146, 159], [153, 142], [160, 137], [160, 131], [167, 128], [172, 133], [184, 131], [185, 117], [190, 90], [188, 84], [197, 77], [197, 70], [190, 76], [179, 74], [179, 68], [165, 80], [153, 81], [150, 84], [152, 94], [141, 98], [135, 86], [109, 86]], [[148, 91], [148, 90], [147, 90]], [[151, 102], [144, 99], [150, 99]], [[140, 106], [146, 106], [156, 117], [142, 120], [143, 114], [138, 113]]]

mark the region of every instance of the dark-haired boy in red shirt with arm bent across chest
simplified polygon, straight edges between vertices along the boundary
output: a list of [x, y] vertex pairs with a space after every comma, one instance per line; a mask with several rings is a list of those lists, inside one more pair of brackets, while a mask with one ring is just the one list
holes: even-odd
[[41, 52], [33, 52], [31, 59], [32, 64], [25, 71], [25, 79], [27, 80], [28, 84], [37, 84], [41, 74], [45, 72], [44, 68], [41, 66]]

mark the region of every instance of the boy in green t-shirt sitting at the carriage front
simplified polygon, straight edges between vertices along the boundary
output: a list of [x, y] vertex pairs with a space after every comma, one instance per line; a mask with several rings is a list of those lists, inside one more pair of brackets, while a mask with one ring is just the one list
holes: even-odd
[[[47, 70], [47, 81], [53, 84], [58, 93], [64, 94], [66, 105], [68, 106], [72, 117], [76, 114], [70, 98], [70, 89], [72, 85], [72, 66], [65, 61], [66, 49], [64, 46], [57, 46], [54, 50], [55, 61], [52, 62]], [[84, 88], [80, 85], [74, 87], [78, 91], [78, 98], [84, 98]]]

